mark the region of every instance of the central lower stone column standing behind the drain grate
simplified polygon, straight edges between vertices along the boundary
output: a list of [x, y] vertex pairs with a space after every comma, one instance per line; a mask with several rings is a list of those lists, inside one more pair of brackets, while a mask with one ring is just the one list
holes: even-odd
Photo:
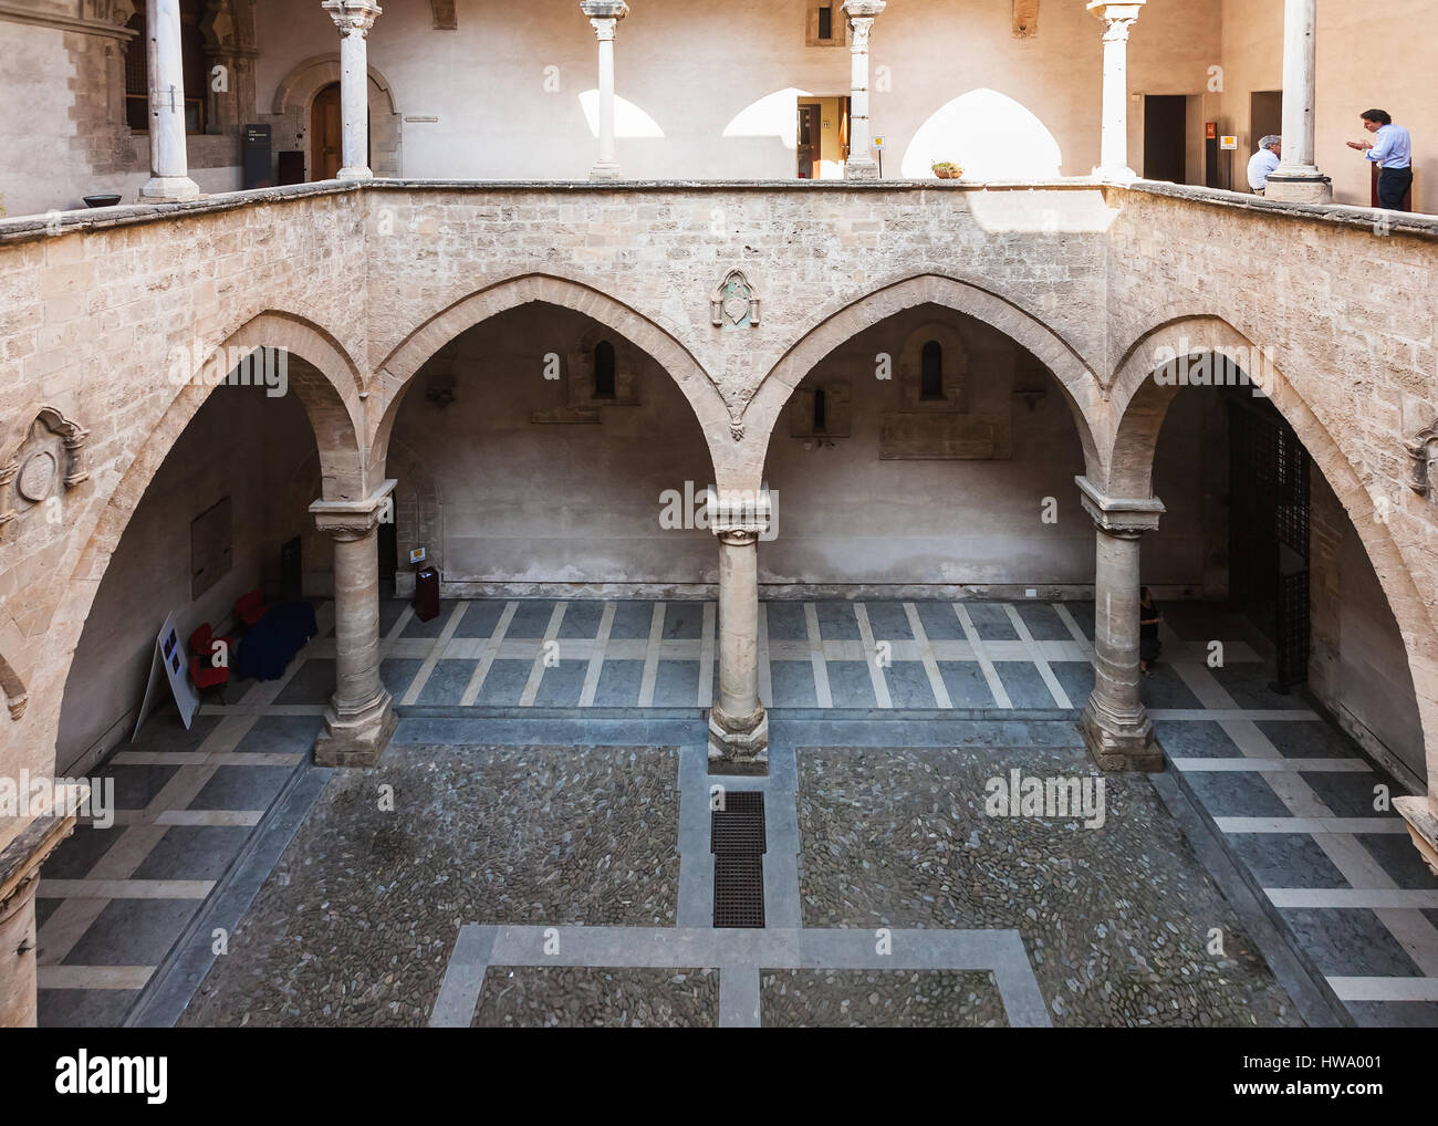
[[758, 502], [709, 495], [719, 538], [719, 700], [709, 710], [713, 774], [768, 774], [769, 716], [759, 702], [759, 536], [769, 526], [768, 492]]

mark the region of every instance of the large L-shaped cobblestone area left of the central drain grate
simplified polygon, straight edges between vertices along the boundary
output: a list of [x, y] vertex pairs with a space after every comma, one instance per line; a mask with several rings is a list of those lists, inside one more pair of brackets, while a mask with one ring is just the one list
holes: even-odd
[[673, 926], [676, 771], [651, 748], [410, 746], [336, 772], [183, 1024], [423, 1025], [463, 922]]

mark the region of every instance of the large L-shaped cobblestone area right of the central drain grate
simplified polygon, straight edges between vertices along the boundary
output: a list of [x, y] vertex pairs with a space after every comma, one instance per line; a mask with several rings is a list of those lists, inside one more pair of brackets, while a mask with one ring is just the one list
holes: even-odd
[[1097, 777], [1077, 751], [801, 751], [804, 925], [1015, 928], [1060, 1025], [1301, 1024], [1148, 778], [1106, 775], [1084, 828], [988, 817], [1011, 769]]

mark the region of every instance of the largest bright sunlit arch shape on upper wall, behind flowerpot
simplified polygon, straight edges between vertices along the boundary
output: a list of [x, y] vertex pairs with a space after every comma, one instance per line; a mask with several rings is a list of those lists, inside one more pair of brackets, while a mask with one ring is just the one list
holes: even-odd
[[903, 155], [903, 175], [926, 180], [938, 161], [953, 161], [965, 180], [1054, 180], [1058, 142], [1032, 112], [991, 89], [975, 89], [938, 109]]

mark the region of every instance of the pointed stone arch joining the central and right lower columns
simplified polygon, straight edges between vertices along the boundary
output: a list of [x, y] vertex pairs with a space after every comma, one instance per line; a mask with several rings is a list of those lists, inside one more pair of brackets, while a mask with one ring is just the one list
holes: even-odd
[[764, 457], [789, 395], [830, 352], [863, 329], [905, 309], [936, 305], [984, 321], [1027, 348], [1048, 368], [1064, 391], [1074, 417], [1084, 460], [1096, 463], [1099, 446], [1090, 418], [1102, 398], [1099, 381], [1078, 351], [1043, 321], [1004, 296], [971, 282], [940, 275], [905, 278], [825, 312], [764, 377], [743, 413], [743, 429], [759, 443], [758, 459], [743, 467], [743, 477], [729, 488], [756, 489]]

